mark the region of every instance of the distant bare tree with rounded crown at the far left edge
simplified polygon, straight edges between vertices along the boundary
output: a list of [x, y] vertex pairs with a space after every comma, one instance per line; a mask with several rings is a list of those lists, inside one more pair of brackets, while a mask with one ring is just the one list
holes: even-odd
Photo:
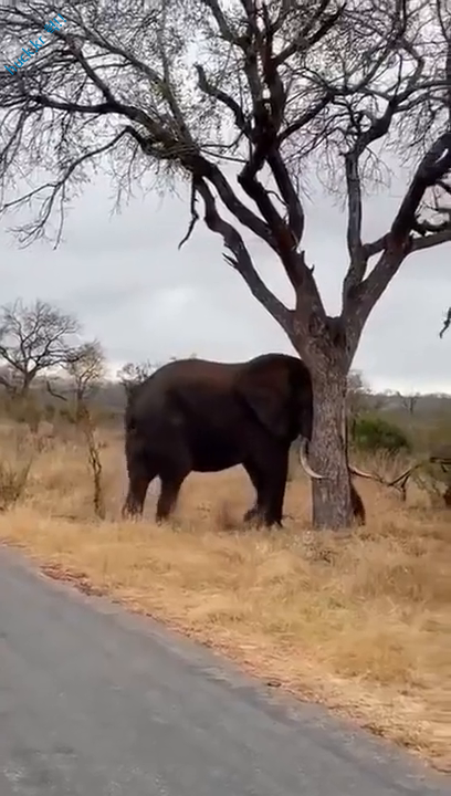
[[18, 300], [1, 307], [0, 384], [24, 397], [38, 375], [76, 359], [78, 331], [76, 318], [40, 300], [30, 306]]

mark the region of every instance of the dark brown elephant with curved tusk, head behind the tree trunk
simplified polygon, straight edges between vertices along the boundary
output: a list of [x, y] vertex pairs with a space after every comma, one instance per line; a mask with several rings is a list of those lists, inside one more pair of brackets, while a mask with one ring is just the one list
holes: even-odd
[[[256, 492], [244, 521], [282, 525], [289, 452], [298, 436], [302, 465], [310, 478], [324, 478], [307, 460], [312, 427], [312, 379], [297, 357], [262, 354], [242, 363], [170, 362], [128, 391], [123, 517], [143, 513], [148, 485], [157, 476], [160, 522], [174, 511], [190, 472], [241, 464]], [[352, 501], [355, 516], [364, 523], [364, 504], [353, 484]]]

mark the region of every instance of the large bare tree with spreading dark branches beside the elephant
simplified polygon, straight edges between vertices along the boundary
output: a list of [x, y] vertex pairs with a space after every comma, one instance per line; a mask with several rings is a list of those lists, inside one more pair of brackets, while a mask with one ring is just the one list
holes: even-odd
[[[314, 523], [352, 521], [346, 378], [365, 323], [406, 258], [451, 240], [451, 24], [444, 0], [85, 0], [42, 35], [51, 0], [0, 8], [0, 180], [4, 211], [36, 214], [44, 234], [98, 164], [118, 199], [132, 185], [191, 185], [227, 263], [283, 327], [313, 378]], [[25, 48], [27, 50], [27, 48]], [[14, 74], [11, 74], [14, 73]], [[410, 169], [388, 229], [363, 232], [365, 191], [382, 153]], [[35, 164], [48, 177], [38, 182]], [[327, 314], [302, 249], [307, 170], [344, 191], [348, 264], [342, 312]], [[31, 189], [17, 188], [28, 178]], [[238, 189], [234, 181], [238, 181]], [[9, 191], [12, 191], [10, 195]], [[326, 219], [325, 219], [326, 224]], [[293, 292], [285, 306], [261, 279], [242, 229], [261, 239]], [[336, 263], [331, 263], [336, 268]]]

